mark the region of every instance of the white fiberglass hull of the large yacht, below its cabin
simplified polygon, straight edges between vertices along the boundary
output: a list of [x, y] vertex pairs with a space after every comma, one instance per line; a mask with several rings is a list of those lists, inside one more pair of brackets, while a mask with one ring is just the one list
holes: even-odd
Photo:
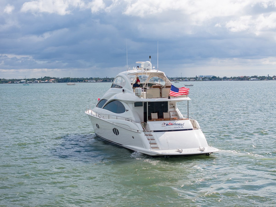
[[[189, 128], [189, 120], [182, 121], [187, 129], [175, 129], [173, 131], [164, 130], [164, 127], [161, 127], [162, 123], [171, 123], [171, 121], [149, 122], [149, 127], [156, 130], [145, 132], [140, 123], [118, 119], [101, 119], [93, 113], [91, 115], [91, 110], [87, 111], [86, 114], [97, 136], [147, 155], [209, 155], [218, 151], [218, 149], [208, 146], [200, 129]], [[176, 121], [175, 123], [179, 122]]]

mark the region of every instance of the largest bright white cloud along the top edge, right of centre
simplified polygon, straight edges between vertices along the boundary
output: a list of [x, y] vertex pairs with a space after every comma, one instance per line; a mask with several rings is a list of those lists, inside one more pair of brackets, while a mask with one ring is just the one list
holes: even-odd
[[[125, 0], [128, 5], [124, 14], [139, 16], [160, 14], [167, 11], [181, 12], [183, 16], [189, 15], [194, 22], [204, 22], [211, 18], [237, 15], [252, 3], [252, 1], [205, 1], [205, 0]], [[253, 1], [254, 2], [254, 1]]]

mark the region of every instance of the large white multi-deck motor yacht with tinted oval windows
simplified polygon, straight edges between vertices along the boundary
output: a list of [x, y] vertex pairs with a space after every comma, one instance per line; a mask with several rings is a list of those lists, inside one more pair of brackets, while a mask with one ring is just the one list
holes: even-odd
[[[210, 155], [219, 151], [207, 144], [198, 122], [189, 117], [188, 95], [170, 95], [171, 82], [152, 68], [150, 61], [136, 62], [119, 73], [111, 88], [88, 115], [95, 134], [112, 143], [152, 156]], [[136, 77], [140, 86], [133, 88]], [[177, 102], [187, 101], [187, 116]]]

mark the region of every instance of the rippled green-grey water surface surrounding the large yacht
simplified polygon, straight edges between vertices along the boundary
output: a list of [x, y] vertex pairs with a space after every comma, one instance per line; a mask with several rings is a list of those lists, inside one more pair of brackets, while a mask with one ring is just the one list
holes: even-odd
[[275, 206], [276, 81], [193, 84], [220, 151], [169, 158], [95, 136], [84, 111], [111, 83], [0, 84], [0, 206]]

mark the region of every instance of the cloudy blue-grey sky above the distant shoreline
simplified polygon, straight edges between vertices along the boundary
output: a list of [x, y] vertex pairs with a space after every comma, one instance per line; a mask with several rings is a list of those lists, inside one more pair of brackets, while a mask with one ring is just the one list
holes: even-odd
[[276, 75], [276, 0], [0, 1], [0, 78], [115, 77], [157, 45], [169, 77]]

